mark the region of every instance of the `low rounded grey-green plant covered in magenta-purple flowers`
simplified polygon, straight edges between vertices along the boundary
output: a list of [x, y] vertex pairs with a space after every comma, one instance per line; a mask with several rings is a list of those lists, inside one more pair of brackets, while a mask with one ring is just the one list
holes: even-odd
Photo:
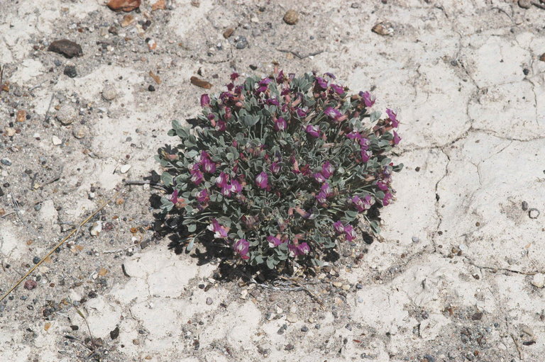
[[373, 111], [368, 91], [349, 95], [333, 74], [275, 72], [231, 82], [201, 96], [200, 125], [177, 120], [176, 147], [160, 149], [162, 181], [172, 189], [164, 213], [178, 213], [191, 233], [207, 233], [251, 265], [320, 265], [338, 242], [356, 240], [371, 208], [392, 202], [387, 153], [400, 142], [397, 114]]

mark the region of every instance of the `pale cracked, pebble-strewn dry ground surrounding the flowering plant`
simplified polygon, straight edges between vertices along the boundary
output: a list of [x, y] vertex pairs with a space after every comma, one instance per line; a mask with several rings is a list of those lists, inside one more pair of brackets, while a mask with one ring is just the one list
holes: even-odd
[[[0, 294], [113, 198], [0, 302], [0, 361], [543, 361], [533, 2], [0, 1]], [[170, 121], [199, 110], [191, 77], [218, 92], [272, 62], [333, 72], [402, 119], [384, 239], [306, 290], [175, 254], [160, 191], [123, 183], [153, 177]]]

